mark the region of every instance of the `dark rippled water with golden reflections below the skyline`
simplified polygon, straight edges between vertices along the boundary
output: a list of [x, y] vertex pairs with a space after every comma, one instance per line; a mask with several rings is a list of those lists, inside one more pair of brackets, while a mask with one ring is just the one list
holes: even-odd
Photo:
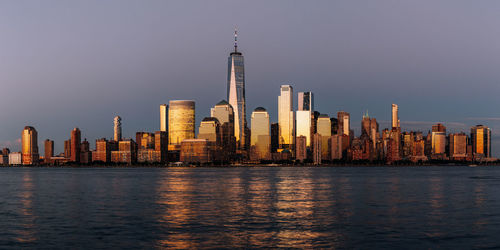
[[500, 168], [0, 168], [0, 248], [499, 248]]

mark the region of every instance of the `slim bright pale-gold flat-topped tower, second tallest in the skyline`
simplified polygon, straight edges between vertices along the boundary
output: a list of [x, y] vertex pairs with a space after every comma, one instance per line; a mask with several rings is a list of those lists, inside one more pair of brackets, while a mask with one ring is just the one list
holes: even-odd
[[293, 88], [281, 85], [278, 96], [279, 148], [293, 151], [295, 144], [295, 116], [293, 112]]

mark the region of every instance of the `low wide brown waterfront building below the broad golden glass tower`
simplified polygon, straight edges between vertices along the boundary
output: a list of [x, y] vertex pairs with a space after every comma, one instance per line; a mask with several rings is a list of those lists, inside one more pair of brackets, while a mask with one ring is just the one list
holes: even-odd
[[208, 163], [213, 160], [206, 139], [185, 139], [181, 143], [180, 161], [185, 163]]

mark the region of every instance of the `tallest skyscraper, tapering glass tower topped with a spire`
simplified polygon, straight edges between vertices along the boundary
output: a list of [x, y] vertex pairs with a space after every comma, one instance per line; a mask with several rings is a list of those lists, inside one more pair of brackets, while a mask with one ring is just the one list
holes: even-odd
[[227, 69], [227, 99], [234, 111], [234, 136], [238, 149], [246, 149], [245, 67], [243, 55], [238, 51], [237, 31], [234, 31], [234, 51], [229, 54]]

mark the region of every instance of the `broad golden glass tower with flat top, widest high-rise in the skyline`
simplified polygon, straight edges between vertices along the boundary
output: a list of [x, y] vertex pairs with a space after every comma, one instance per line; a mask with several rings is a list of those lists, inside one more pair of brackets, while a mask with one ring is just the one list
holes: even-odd
[[195, 103], [174, 100], [168, 106], [168, 150], [179, 150], [183, 140], [194, 139]]

